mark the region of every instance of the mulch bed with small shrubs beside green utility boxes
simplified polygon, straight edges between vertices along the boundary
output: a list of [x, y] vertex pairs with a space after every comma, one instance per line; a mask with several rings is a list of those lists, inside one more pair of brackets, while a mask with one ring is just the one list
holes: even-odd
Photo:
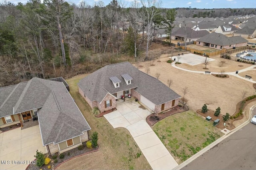
[[[232, 130], [232, 129], [235, 128], [235, 126], [233, 125], [234, 119], [229, 119], [228, 121], [224, 122], [221, 114], [220, 114], [218, 117], [214, 116], [215, 111], [213, 111], [213, 110], [208, 110], [208, 112], [202, 113], [202, 112], [201, 112], [201, 109], [198, 109], [198, 110], [196, 111], [196, 113], [202, 115], [202, 116], [205, 117], [205, 118], [208, 117], [208, 116], [210, 116], [210, 117], [212, 118], [212, 120], [211, 120], [212, 125], [213, 125], [213, 122], [214, 122], [216, 119], [220, 119], [220, 123], [219, 123], [218, 125], [216, 125], [217, 128], [220, 128], [220, 129], [227, 128], [228, 130]], [[241, 117], [238, 117], [236, 120], [238, 120], [238, 119], [242, 119], [242, 116], [241, 116]], [[226, 123], [226, 126], [223, 125], [224, 123]]]

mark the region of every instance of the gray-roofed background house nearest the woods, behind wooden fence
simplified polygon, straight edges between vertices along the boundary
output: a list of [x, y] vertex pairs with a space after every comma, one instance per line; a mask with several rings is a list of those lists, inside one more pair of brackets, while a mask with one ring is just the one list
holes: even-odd
[[198, 40], [199, 38], [202, 38], [207, 34], [210, 33], [206, 30], [194, 31], [191, 28], [186, 28], [185, 30], [185, 27], [181, 27], [180, 29], [172, 32], [171, 39], [185, 42], [185, 39], [187, 38], [187, 42], [192, 42]]

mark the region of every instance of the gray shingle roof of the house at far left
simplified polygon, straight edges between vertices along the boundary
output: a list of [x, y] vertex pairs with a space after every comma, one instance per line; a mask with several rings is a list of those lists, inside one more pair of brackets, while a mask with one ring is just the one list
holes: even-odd
[[41, 108], [38, 121], [43, 145], [57, 144], [90, 130], [62, 82], [34, 77], [1, 87], [0, 96], [0, 117]]

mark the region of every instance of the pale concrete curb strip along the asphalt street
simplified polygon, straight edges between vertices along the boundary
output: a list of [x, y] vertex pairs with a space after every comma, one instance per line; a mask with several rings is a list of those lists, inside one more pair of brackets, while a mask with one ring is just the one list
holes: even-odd
[[178, 166], [173, 168], [172, 170], [180, 170], [181, 168], [183, 168], [184, 166], [186, 166], [187, 164], [189, 164], [190, 162], [192, 162], [193, 160], [195, 160], [196, 158], [198, 158], [199, 156], [204, 154], [206, 151], [210, 150], [211, 148], [214, 148], [222, 140], [224, 140], [225, 138], [227, 138], [228, 136], [230, 136], [234, 132], [238, 131], [240, 128], [242, 128], [245, 125], [247, 125], [250, 122], [250, 119], [252, 119], [252, 110], [254, 108], [256, 108], [256, 104], [254, 104], [252, 107], [250, 107], [249, 118], [247, 119], [247, 121], [245, 121], [244, 123], [242, 123], [238, 127], [236, 127], [233, 130], [231, 130], [228, 134], [224, 134], [223, 136], [221, 136], [220, 138], [218, 138], [217, 140], [212, 142], [210, 145], [206, 146], [205, 148], [203, 148], [202, 150], [200, 150], [199, 152], [197, 152], [196, 154], [194, 154], [193, 156], [191, 156], [190, 158], [188, 158], [187, 160], [185, 160], [184, 162], [182, 162], [181, 164], [179, 164]]

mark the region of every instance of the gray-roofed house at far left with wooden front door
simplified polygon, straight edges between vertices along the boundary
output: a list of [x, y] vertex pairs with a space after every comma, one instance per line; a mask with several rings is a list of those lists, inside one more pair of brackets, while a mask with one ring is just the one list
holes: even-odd
[[0, 88], [0, 128], [26, 121], [39, 123], [49, 154], [87, 141], [90, 126], [62, 82], [37, 77]]

